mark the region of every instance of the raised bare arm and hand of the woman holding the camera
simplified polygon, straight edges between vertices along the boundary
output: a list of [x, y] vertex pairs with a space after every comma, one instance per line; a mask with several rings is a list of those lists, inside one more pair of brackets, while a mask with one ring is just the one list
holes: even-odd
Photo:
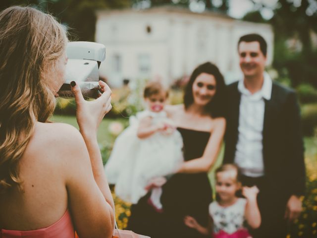
[[114, 229], [114, 203], [97, 142], [99, 124], [111, 110], [111, 90], [106, 83], [99, 84], [102, 95], [91, 102], [85, 101], [79, 86], [72, 84], [80, 133], [67, 133], [71, 144], [65, 183], [72, 219], [81, 238], [110, 238]]

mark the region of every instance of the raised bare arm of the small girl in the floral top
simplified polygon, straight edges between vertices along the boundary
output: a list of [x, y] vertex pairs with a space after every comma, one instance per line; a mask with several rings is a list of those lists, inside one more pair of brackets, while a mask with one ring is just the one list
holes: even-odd
[[242, 188], [242, 194], [247, 199], [245, 218], [253, 229], [257, 229], [261, 225], [261, 214], [257, 202], [258, 193], [259, 189], [256, 186]]

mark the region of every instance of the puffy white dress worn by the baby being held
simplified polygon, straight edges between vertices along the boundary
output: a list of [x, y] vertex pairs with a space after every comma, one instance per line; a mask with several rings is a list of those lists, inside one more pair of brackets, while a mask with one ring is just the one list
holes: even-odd
[[175, 173], [183, 162], [182, 136], [176, 129], [169, 134], [156, 132], [138, 138], [139, 121], [145, 117], [151, 117], [153, 124], [172, 123], [163, 111], [143, 111], [131, 117], [130, 125], [116, 138], [105, 166], [116, 195], [131, 203], [137, 203], [148, 192], [145, 187], [151, 179]]

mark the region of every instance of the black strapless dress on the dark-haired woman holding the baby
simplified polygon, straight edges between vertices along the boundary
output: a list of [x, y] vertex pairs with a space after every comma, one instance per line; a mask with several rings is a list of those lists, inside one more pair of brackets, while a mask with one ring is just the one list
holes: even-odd
[[[184, 142], [184, 159], [203, 156], [210, 132], [177, 128]], [[127, 230], [151, 238], [204, 237], [184, 224], [186, 215], [193, 216], [203, 226], [208, 225], [208, 207], [212, 202], [211, 184], [207, 173], [175, 174], [163, 185], [163, 212], [156, 212], [148, 204], [149, 194], [131, 206]]]

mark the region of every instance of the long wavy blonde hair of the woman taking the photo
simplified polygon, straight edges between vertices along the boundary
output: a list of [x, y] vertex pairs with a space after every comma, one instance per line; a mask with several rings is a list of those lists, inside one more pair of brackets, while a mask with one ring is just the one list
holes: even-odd
[[19, 160], [34, 124], [53, 113], [48, 77], [66, 43], [65, 29], [49, 14], [27, 6], [0, 12], [0, 193], [20, 187]]

